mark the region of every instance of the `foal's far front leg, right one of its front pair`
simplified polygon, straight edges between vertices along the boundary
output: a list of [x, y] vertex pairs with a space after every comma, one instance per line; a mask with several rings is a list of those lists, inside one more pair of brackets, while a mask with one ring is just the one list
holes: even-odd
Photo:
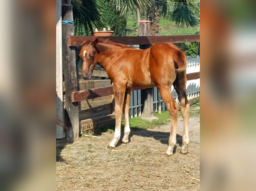
[[131, 97], [131, 90], [126, 89], [125, 97], [124, 97], [124, 106], [123, 106], [125, 126], [124, 126], [124, 137], [122, 139], [122, 143], [129, 142], [129, 134], [131, 132], [130, 125], [129, 125], [130, 97]]

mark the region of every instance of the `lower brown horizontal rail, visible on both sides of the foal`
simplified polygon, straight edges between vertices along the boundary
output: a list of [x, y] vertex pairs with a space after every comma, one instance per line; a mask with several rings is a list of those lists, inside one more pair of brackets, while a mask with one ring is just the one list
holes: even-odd
[[[195, 80], [200, 78], [200, 72], [187, 74], [187, 80]], [[86, 99], [94, 99], [97, 97], [113, 95], [113, 87], [95, 88], [91, 90], [83, 90], [71, 93], [72, 102], [83, 101]]]

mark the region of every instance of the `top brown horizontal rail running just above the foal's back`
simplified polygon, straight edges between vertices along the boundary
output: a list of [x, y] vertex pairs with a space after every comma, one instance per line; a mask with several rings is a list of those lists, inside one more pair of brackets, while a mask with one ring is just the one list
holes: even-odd
[[155, 43], [184, 43], [199, 42], [200, 35], [176, 36], [138, 36], [138, 37], [95, 37], [95, 36], [68, 36], [69, 46], [79, 46], [78, 42], [95, 40], [95, 38], [110, 39], [113, 42], [126, 45], [147, 45]]

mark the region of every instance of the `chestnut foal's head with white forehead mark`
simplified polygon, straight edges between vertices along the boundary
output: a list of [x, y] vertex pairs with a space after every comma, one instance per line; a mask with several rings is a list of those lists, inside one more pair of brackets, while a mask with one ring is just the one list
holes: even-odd
[[79, 57], [82, 60], [82, 78], [88, 80], [92, 78], [92, 72], [97, 64], [96, 46], [99, 40], [96, 38], [95, 41], [84, 41], [81, 46]]

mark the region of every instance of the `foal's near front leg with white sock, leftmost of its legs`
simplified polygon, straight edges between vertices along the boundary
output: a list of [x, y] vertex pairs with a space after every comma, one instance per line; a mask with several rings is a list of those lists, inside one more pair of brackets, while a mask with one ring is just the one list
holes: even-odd
[[116, 117], [116, 127], [113, 140], [109, 143], [108, 148], [113, 148], [116, 146], [118, 140], [121, 136], [121, 119], [124, 104], [125, 86], [113, 85], [113, 91], [115, 95], [115, 117]]

